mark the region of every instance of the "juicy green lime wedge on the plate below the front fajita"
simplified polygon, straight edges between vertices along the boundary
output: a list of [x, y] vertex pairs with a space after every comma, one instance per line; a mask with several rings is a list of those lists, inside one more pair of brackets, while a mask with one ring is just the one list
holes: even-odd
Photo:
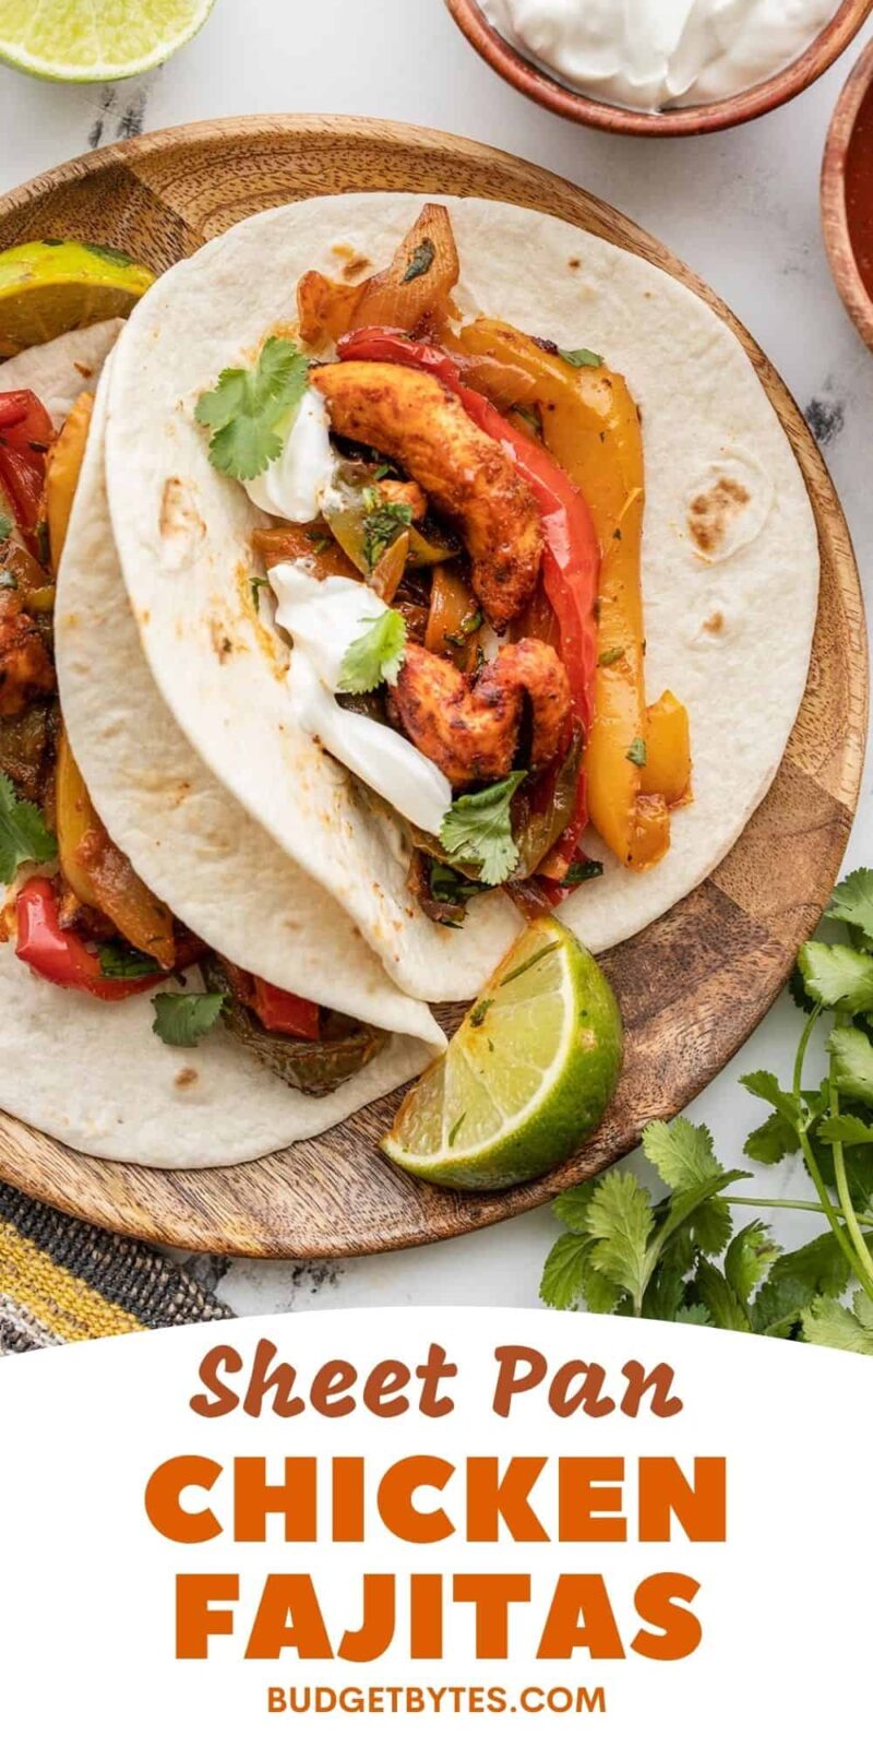
[[597, 1127], [622, 1050], [622, 1015], [606, 977], [562, 922], [543, 917], [407, 1094], [382, 1150], [445, 1188], [526, 1183], [569, 1158]]

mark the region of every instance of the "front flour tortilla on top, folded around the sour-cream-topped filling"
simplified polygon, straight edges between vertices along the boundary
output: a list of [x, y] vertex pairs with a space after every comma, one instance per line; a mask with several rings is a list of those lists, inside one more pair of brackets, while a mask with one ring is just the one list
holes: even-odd
[[[691, 891], [766, 793], [807, 680], [815, 522], [746, 353], [700, 299], [562, 220], [477, 199], [445, 204], [464, 314], [601, 351], [643, 411], [648, 695], [669, 687], [688, 706], [695, 800], [674, 812], [670, 853], [648, 874], [629, 874], [588, 839], [604, 877], [560, 915], [601, 952]], [[175, 720], [349, 912], [395, 982], [436, 1001], [473, 998], [519, 919], [491, 894], [461, 931], [430, 922], [407, 893], [402, 828], [292, 723], [286, 652], [265, 648], [244, 583], [262, 517], [211, 468], [194, 419], [220, 370], [250, 362], [292, 318], [306, 269], [335, 274], [342, 248], [389, 260], [419, 210], [412, 194], [304, 201], [236, 225], [159, 280], [117, 348], [107, 477], [140, 638]], [[712, 491], [725, 480], [721, 514]]]

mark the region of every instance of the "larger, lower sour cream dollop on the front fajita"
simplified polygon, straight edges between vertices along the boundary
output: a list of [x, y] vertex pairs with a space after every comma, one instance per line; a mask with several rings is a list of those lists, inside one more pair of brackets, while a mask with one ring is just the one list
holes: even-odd
[[339, 758], [361, 783], [388, 800], [403, 819], [431, 837], [452, 805], [452, 788], [438, 765], [403, 734], [337, 704], [344, 655], [386, 611], [365, 582], [328, 577], [304, 564], [276, 564], [269, 573], [276, 624], [293, 638], [288, 683], [297, 727]]

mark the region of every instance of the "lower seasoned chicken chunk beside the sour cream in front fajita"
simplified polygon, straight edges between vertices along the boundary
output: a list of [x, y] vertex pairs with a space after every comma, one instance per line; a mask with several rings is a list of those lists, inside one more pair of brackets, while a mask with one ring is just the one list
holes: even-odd
[[531, 702], [531, 769], [560, 749], [571, 694], [560, 655], [538, 638], [505, 643], [482, 673], [457, 673], [443, 655], [407, 643], [391, 699], [414, 746], [433, 758], [452, 788], [496, 783], [510, 774]]

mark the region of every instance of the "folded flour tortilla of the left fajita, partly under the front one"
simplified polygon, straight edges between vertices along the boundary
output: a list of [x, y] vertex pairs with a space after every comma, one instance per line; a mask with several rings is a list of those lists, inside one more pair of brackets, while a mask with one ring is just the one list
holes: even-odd
[[[52, 342], [54, 374], [52, 360], [40, 358], [44, 377], [61, 386], [70, 341]], [[75, 335], [77, 348], [80, 341]], [[14, 362], [16, 386], [30, 386], [23, 360]], [[175, 727], [117, 570], [103, 409], [105, 384], [56, 606], [65, 723], [98, 812], [148, 884], [211, 945], [398, 1036], [337, 1092], [304, 1097], [220, 1025], [196, 1050], [168, 1048], [152, 1031], [148, 994], [107, 1006], [56, 989], [9, 943], [0, 947], [0, 1106], [103, 1158], [159, 1169], [232, 1165], [342, 1122], [421, 1073], [443, 1038], [428, 1008], [389, 982], [339, 905], [222, 793]], [[185, 973], [187, 991], [201, 987], [197, 971]]]

